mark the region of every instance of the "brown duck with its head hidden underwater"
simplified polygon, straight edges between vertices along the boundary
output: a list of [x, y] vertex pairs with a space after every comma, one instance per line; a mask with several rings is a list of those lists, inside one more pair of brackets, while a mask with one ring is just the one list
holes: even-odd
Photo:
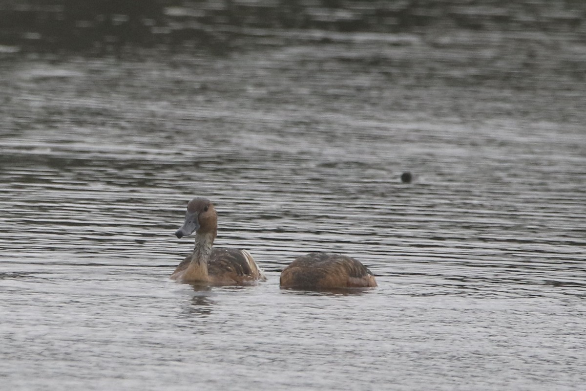
[[322, 290], [376, 287], [374, 274], [360, 261], [342, 254], [309, 253], [281, 272], [281, 288]]

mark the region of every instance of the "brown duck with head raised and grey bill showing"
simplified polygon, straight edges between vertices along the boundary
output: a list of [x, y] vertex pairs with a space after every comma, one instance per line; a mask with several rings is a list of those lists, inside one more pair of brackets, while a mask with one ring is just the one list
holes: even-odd
[[267, 280], [247, 250], [213, 247], [217, 235], [217, 212], [207, 198], [196, 197], [189, 201], [185, 222], [175, 236], [181, 239], [193, 232], [193, 253], [175, 268], [172, 280], [207, 285], [253, 285]]

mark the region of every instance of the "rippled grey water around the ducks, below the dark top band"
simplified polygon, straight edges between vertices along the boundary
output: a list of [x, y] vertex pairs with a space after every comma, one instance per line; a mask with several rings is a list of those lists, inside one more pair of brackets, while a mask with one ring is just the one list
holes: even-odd
[[[581, 389], [584, 42], [254, 43], [2, 60], [2, 388]], [[266, 283], [169, 280], [193, 196]], [[379, 287], [280, 290], [314, 250]]]

